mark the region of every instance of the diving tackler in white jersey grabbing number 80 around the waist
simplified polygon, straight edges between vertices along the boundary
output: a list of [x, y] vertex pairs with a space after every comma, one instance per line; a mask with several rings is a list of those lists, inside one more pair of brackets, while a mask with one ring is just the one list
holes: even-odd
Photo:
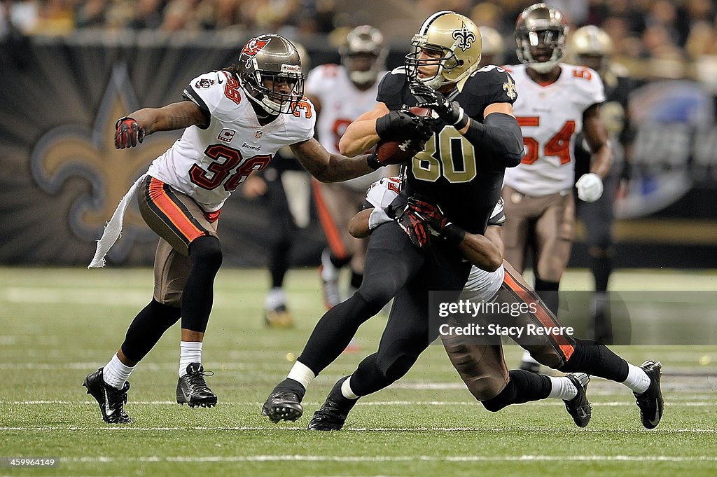
[[[351, 234], [367, 237], [373, 230], [394, 219], [388, 209], [396, 207], [394, 202], [401, 189], [399, 177], [387, 177], [376, 181], [366, 193], [366, 208], [351, 219]], [[416, 214], [432, 235], [431, 240], [448, 240], [445, 232], [457, 227], [442, 217], [442, 212], [424, 200], [409, 199], [408, 213]], [[527, 310], [522, 316], [511, 317], [504, 322], [501, 316], [476, 316], [469, 322], [452, 317], [448, 326], [465, 329], [467, 324], [481, 323], [483, 326], [500, 323], [505, 326], [525, 328], [528, 323], [546, 328], [560, 327], [561, 324], [545, 303], [536, 296], [533, 289], [521, 275], [503, 258], [502, 225], [505, 223], [503, 201], [495, 205], [488, 227], [483, 235], [462, 231], [462, 239], [455, 240], [460, 252], [473, 263], [465, 283], [462, 300], [473, 303], [488, 302], [511, 309]], [[453, 231], [455, 232], [455, 230]], [[547, 366], [569, 372], [564, 377], [541, 375], [533, 383], [526, 382], [522, 372], [511, 371], [505, 366], [503, 346], [500, 341], [489, 342], [475, 336], [462, 334], [441, 334], [443, 346], [460, 377], [476, 400], [487, 410], [498, 411], [508, 405], [533, 400], [557, 398], [564, 400], [566, 410], [576, 425], [584, 428], [592, 417], [592, 409], [585, 394], [589, 374], [622, 382], [637, 397], [643, 425], [654, 428], [662, 415], [662, 392], [660, 390], [660, 364], [647, 361], [642, 367], [627, 363], [602, 344], [594, 344], [569, 334], [551, 334], [543, 341], [516, 339], [529, 350], [538, 361]], [[589, 374], [586, 374], [589, 373]]]

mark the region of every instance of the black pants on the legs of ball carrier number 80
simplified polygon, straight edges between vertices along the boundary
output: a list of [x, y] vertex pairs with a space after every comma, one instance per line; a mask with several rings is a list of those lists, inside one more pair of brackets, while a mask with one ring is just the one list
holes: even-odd
[[361, 288], [321, 318], [299, 361], [318, 374], [341, 354], [361, 323], [395, 296], [379, 350], [351, 377], [351, 389], [359, 396], [389, 386], [438, 336], [437, 326], [429, 326], [429, 291], [452, 290], [442, 299], [457, 299], [469, 270], [455, 247], [439, 243], [418, 250], [398, 225], [381, 225], [371, 235]]

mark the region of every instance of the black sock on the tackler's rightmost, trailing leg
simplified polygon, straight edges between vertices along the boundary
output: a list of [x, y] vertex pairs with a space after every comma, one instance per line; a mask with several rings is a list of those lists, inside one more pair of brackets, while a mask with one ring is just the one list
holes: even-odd
[[593, 376], [623, 382], [627, 379], [627, 362], [602, 343], [592, 339], [575, 338], [570, 359], [560, 368], [564, 373], [583, 372]]

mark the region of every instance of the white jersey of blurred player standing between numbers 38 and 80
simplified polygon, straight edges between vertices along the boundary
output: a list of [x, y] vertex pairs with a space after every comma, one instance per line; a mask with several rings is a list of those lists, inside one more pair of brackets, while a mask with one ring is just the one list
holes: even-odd
[[[379, 78], [384, 72], [379, 73]], [[353, 85], [343, 65], [319, 65], [306, 77], [304, 94], [320, 100], [321, 111], [316, 122], [318, 141], [327, 151], [340, 154], [338, 140], [341, 139], [346, 127], [361, 114], [374, 109], [379, 82], [366, 91]], [[371, 174], [343, 181], [351, 189], [366, 190], [371, 182], [385, 176], [385, 168], [379, 168]]]

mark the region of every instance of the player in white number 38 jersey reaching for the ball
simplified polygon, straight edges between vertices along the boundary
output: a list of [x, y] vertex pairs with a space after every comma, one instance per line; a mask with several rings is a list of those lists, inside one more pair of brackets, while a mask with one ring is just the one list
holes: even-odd
[[[155, 131], [186, 129], [120, 202], [90, 264], [104, 265], [104, 255], [121, 230], [124, 209], [137, 197], [143, 219], [160, 237], [155, 288], [117, 353], [85, 378], [105, 422], [130, 422], [123, 409], [127, 379], [180, 317], [176, 400], [190, 407], [216, 404], [217, 396], [204, 380], [201, 344], [212, 310], [214, 277], [222, 264], [217, 219], [224, 201], [252, 171], [263, 169], [282, 146], [290, 146], [321, 181], [351, 179], [379, 166], [375, 156], [332, 154], [313, 138], [316, 114], [303, 96], [303, 82], [294, 45], [277, 34], [264, 34], [247, 42], [237, 65], [191, 80], [183, 101], [137, 110], [118, 120], [117, 148], [138, 146]], [[404, 123], [397, 118], [389, 129], [407, 127]]]

